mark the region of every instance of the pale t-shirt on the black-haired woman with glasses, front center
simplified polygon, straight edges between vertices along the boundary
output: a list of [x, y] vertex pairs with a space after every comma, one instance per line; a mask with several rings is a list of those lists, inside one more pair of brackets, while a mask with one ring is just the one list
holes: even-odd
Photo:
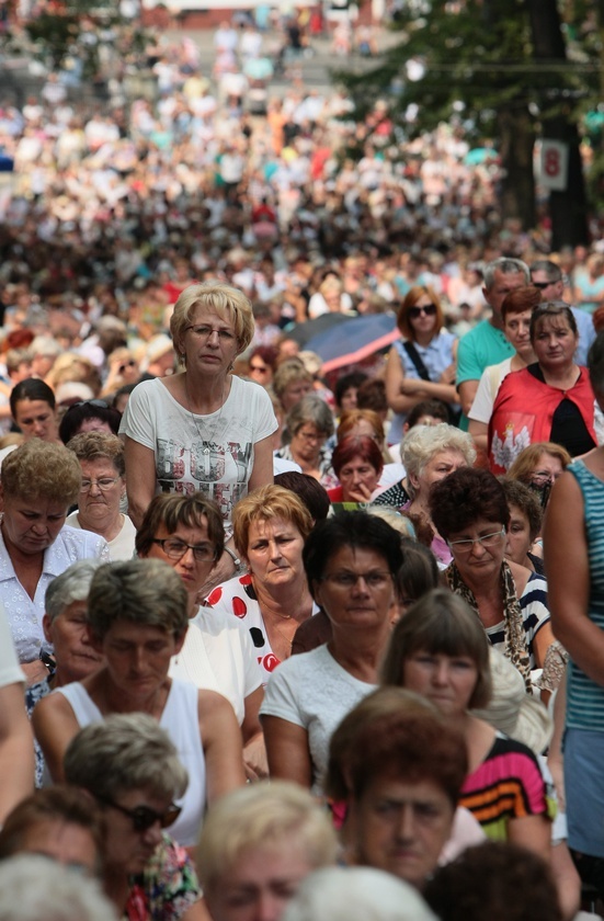
[[338, 664], [327, 645], [292, 656], [271, 675], [260, 714], [307, 730], [314, 793], [322, 792], [333, 731], [374, 690], [375, 684], [358, 681]]

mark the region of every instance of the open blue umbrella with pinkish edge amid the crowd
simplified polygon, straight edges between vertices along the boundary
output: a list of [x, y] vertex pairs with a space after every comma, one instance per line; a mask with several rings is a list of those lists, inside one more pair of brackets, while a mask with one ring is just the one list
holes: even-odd
[[318, 333], [305, 348], [323, 360], [322, 373], [327, 374], [387, 349], [399, 336], [394, 314], [367, 314]]

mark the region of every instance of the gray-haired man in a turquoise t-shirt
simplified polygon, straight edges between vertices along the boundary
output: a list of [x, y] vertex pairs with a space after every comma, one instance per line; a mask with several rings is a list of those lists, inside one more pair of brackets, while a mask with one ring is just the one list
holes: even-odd
[[501, 305], [510, 292], [529, 284], [528, 265], [520, 259], [494, 259], [485, 269], [482, 294], [491, 316], [459, 341], [457, 351], [457, 390], [463, 417], [459, 428], [468, 430], [468, 411], [474, 402], [480, 376], [488, 365], [512, 357], [514, 349], [503, 333]]

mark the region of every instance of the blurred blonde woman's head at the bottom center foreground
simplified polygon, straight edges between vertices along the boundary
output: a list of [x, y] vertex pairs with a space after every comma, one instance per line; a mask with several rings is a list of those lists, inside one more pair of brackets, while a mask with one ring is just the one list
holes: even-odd
[[338, 840], [307, 791], [263, 781], [209, 810], [196, 856], [214, 921], [258, 918], [267, 905], [277, 919], [309, 873], [335, 863]]

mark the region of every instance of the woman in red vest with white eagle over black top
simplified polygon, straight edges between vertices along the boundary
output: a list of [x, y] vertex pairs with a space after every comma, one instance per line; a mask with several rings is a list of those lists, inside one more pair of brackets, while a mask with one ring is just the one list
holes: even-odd
[[509, 374], [499, 388], [489, 423], [489, 463], [505, 473], [532, 442], [552, 441], [571, 457], [596, 445], [594, 395], [585, 368], [574, 363], [578, 334], [562, 302], [536, 307], [531, 343], [536, 363]]

